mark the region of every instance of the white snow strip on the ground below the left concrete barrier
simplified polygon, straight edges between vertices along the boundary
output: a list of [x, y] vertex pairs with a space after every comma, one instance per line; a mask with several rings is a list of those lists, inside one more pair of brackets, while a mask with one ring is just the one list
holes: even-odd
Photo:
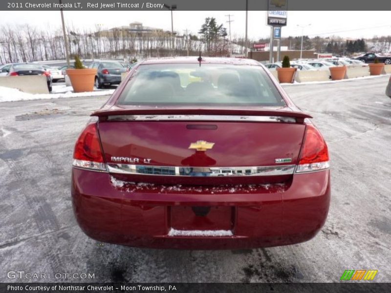
[[22, 92], [16, 88], [0, 86], [0, 103], [14, 102], [14, 101], [27, 101], [27, 100], [106, 96], [106, 95], [111, 95], [113, 92], [114, 89], [96, 90], [93, 92], [84, 92], [84, 93], [74, 93], [72, 91], [67, 91], [63, 93], [52, 93], [52, 94], [29, 94], [29, 93]]

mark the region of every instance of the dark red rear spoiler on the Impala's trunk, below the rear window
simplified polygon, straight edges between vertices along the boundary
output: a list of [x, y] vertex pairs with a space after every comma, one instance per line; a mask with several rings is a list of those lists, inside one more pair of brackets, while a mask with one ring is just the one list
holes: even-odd
[[[291, 117], [297, 120], [297, 123], [303, 123], [305, 118], [312, 118], [299, 111], [292, 111], [290, 108], [286, 110], [270, 110], [270, 109], [214, 109], [214, 108], [133, 108], [124, 109], [119, 107], [110, 107], [109, 109], [100, 109], [91, 114], [91, 116], [99, 117], [99, 120], [108, 120], [112, 116], [139, 116], [139, 115], [200, 115], [200, 116], [273, 116], [273, 117]], [[171, 117], [174, 118], [174, 117]], [[130, 119], [132, 120], [132, 119]], [[133, 119], [134, 120], [134, 119]], [[168, 119], [170, 120], [170, 119]], [[245, 121], [245, 119], [244, 119]]]

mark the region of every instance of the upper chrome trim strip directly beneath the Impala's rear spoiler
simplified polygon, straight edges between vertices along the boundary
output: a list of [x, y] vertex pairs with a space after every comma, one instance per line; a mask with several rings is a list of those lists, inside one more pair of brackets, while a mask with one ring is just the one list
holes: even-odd
[[294, 117], [242, 115], [111, 115], [109, 121], [248, 121], [296, 123]]

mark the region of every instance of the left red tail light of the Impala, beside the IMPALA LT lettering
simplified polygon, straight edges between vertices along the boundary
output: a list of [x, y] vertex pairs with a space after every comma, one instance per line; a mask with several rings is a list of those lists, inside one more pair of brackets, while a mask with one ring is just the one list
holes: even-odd
[[96, 124], [89, 124], [80, 134], [73, 152], [73, 166], [106, 171]]

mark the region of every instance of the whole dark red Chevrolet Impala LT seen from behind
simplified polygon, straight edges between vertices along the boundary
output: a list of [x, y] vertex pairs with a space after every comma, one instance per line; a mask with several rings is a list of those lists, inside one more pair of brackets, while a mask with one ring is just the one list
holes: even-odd
[[249, 249], [309, 240], [326, 221], [326, 142], [256, 61], [147, 60], [91, 116], [71, 192], [98, 241]]

